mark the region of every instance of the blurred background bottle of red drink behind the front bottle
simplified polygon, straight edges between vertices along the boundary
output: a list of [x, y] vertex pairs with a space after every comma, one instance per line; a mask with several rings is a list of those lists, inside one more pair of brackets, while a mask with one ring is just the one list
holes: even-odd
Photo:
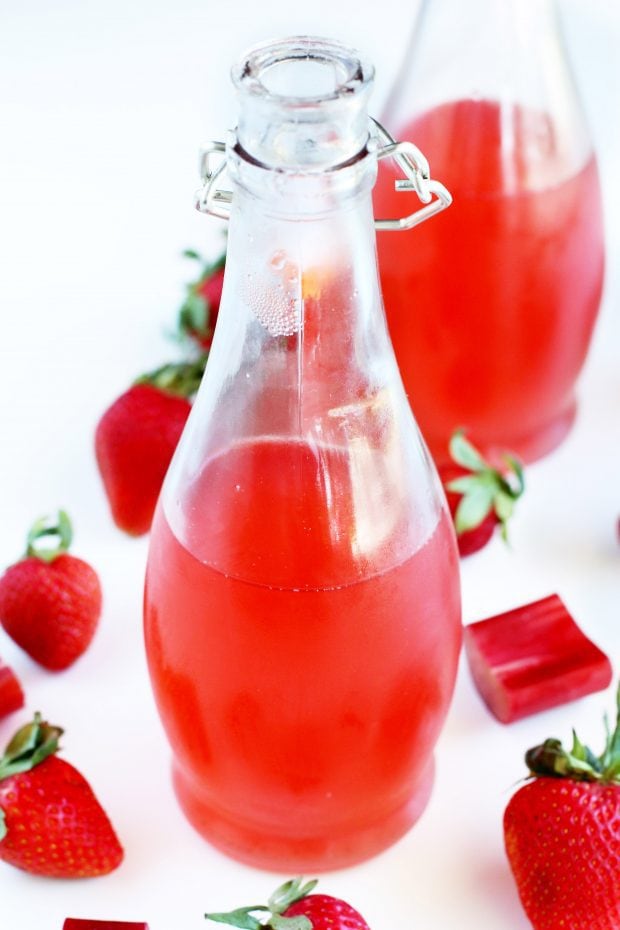
[[[425, 0], [387, 128], [454, 204], [378, 237], [390, 334], [436, 460], [457, 427], [536, 459], [575, 417], [603, 282], [595, 157], [550, 0]], [[394, 208], [382, 165], [376, 209]]]

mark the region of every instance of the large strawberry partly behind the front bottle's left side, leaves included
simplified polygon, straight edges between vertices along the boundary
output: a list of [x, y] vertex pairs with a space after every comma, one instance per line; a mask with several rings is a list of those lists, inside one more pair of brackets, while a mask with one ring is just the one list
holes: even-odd
[[121, 394], [95, 433], [97, 464], [119, 529], [141, 536], [151, 527], [159, 492], [191, 410], [206, 355], [165, 365]]

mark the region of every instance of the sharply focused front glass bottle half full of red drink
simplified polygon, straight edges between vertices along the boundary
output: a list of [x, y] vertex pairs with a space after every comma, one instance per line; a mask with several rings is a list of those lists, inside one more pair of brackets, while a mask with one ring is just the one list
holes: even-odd
[[209, 171], [206, 195], [230, 203], [217, 332], [147, 569], [181, 807], [277, 870], [367, 858], [420, 815], [461, 639], [452, 526], [381, 304], [372, 77], [310, 38], [233, 70], [233, 191]]

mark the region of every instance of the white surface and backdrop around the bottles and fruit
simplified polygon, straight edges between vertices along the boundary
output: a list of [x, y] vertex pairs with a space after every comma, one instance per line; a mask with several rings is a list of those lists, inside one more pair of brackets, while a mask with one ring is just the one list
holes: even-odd
[[[564, 7], [607, 194], [606, 301], [577, 427], [530, 468], [512, 550], [497, 540], [463, 564], [464, 613], [469, 621], [557, 591], [620, 671], [620, 22], [614, 0]], [[260, 900], [286, 877], [226, 860], [176, 807], [142, 652], [146, 541], [112, 526], [92, 434], [130, 379], [168, 354], [163, 332], [190, 273], [181, 249], [217, 242], [217, 221], [191, 201], [198, 142], [234, 124], [229, 64], [271, 36], [332, 35], [374, 59], [379, 112], [409, 19], [397, 0], [380, 12], [353, 0], [315, 0], [303, 13], [278, 0], [2, 4], [0, 564], [17, 557], [35, 516], [63, 505], [76, 553], [101, 574], [105, 611], [66, 673], [41, 671], [4, 635], [0, 655], [21, 677], [28, 711], [65, 727], [64, 756], [89, 777], [126, 849], [116, 873], [81, 883], [0, 863], [3, 928], [60, 930], [72, 915], [197, 930], [206, 909]], [[373, 930], [526, 930], [501, 833], [522, 753], [568, 737], [572, 723], [598, 740], [603, 708], [611, 689], [502, 727], [463, 668], [423, 819], [374, 861], [324, 876], [322, 889], [350, 900]], [[25, 713], [0, 722], [2, 744]]]

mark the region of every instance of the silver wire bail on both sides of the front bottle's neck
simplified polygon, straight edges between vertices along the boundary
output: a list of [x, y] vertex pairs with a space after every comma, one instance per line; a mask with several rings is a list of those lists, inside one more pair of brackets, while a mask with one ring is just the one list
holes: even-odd
[[[378, 138], [380, 147], [375, 149], [377, 160], [393, 158], [404, 177], [394, 182], [397, 191], [415, 191], [418, 199], [424, 204], [407, 216], [394, 219], [375, 219], [375, 229], [400, 231], [412, 229], [425, 220], [441, 213], [452, 203], [452, 194], [440, 181], [430, 176], [428, 160], [413, 142], [396, 142], [390, 133], [376, 119], [370, 117], [375, 127], [374, 138]], [[222, 158], [215, 167], [212, 167], [212, 156], [221, 155]], [[224, 142], [207, 142], [200, 149], [200, 179], [201, 186], [196, 191], [196, 209], [200, 213], [210, 213], [220, 219], [230, 217], [230, 207], [233, 192], [222, 190], [216, 184], [226, 168], [226, 144]]]

